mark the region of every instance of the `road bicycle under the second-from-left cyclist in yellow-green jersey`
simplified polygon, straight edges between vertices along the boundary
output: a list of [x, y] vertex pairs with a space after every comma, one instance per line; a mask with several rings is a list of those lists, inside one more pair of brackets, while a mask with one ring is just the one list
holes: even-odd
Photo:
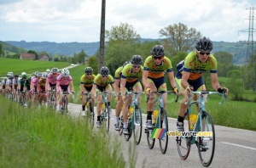
[[108, 107], [108, 94], [111, 94], [112, 92], [97, 92], [96, 94], [102, 94], [102, 118], [101, 123], [102, 126], [105, 128], [106, 132], [109, 131], [109, 122], [110, 122], [110, 111]]

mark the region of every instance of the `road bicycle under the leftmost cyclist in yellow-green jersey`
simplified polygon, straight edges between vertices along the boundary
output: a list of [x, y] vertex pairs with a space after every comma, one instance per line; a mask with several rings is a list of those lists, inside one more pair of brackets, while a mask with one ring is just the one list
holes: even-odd
[[82, 96], [86, 96], [85, 101], [85, 114], [89, 119], [90, 126], [94, 126], [94, 104], [92, 103], [91, 93], [90, 92], [83, 92]]

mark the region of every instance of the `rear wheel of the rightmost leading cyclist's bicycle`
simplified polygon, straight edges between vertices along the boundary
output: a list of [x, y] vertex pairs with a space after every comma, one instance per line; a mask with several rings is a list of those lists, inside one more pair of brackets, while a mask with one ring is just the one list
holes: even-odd
[[[189, 114], [184, 115], [184, 132], [189, 132]], [[186, 160], [189, 157], [191, 147], [191, 137], [177, 137], [177, 152], [182, 160]]]

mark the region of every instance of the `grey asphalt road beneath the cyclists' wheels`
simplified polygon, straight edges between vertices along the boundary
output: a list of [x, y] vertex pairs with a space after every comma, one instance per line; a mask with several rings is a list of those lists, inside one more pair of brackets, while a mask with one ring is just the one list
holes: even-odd
[[[70, 114], [79, 117], [81, 105], [69, 104]], [[114, 130], [114, 109], [110, 120], [110, 134], [120, 139], [123, 145], [125, 160], [129, 158], [129, 142], [124, 136], [119, 136]], [[169, 130], [176, 130], [176, 120], [169, 118]], [[214, 119], [213, 119], [214, 120]], [[143, 115], [143, 130], [146, 115]], [[96, 128], [97, 129], [97, 128]], [[256, 132], [235, 129], [226, 126], [215, 126], [216, 144], [215, 154], [210, 167], [256, 167]], [[129, 140], [133, 142], [133, 137]], [[176, 137], [169, 137], [166, 154], [161, 154], [158, 140], [154, 148], [149, 149], [146, 134], [143, 132], [142, 140], [137, 148], [136, 167], [203, 167], [195, 144], [191, 146], [189, 158], [181, 160], [177, 153]], [[143, 162], [145, 162], [143, 164]]]

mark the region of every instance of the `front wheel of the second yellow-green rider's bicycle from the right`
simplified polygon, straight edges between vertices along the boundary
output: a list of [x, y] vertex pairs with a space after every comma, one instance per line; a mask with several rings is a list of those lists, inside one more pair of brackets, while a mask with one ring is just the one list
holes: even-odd
[[162, 154], [166, 154], [166, 150], [167, 150], [167, 147], [168, 147], [168, 135], [167, 135], [167, 132], [168, 132], [168, 119], [167, 119], [167, 115], [166, 115], [166, 110], [165, 109], [161, 109], [160, 110], [160, 114], [161, 114], [161, 119], [163, 121], [163, 124], [161, 126], [162, 129], [165, 129], [165, 134], [160, 137], [159, 139], [159, 144], [160, 144], [160, 150], [161, 150], [161, 153]]

